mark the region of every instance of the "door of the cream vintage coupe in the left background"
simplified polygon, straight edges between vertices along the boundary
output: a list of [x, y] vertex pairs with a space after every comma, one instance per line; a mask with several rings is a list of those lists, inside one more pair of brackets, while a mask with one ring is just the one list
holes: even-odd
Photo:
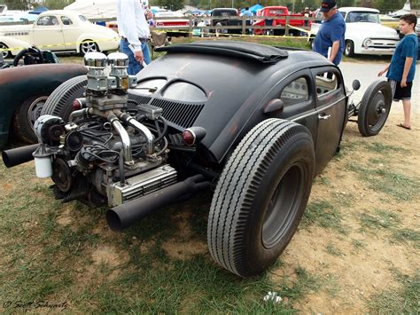
[[36, 20], [33, 28], [33, 44], [41, 49], [65, 51], [63, 28], [56, 15], [43, 15]]

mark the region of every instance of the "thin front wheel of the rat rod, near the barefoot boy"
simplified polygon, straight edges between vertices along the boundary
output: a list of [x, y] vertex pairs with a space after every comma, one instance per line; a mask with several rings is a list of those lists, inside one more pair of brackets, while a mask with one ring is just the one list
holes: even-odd
[[393, 102], [391, 85], [386, 81], [371, 83], [359, 107], [357, 126], [364, 137], [375, 136], [385, 125]]

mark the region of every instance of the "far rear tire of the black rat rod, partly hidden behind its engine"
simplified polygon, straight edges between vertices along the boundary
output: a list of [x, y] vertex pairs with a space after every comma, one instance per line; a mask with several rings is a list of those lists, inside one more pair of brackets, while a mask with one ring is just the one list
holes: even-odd
[[41, 114], [59, 116], [68, 122], [68, 117], [73, 112], [74, 98], [81, 98], [87, 85], [86, 75], [74, 76], [74, 78], [61, 83], [45, 102]]

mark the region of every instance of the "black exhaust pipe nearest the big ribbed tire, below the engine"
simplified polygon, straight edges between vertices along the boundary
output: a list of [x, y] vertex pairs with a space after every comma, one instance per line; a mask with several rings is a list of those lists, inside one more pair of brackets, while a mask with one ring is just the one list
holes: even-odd
[[111, 230], [120, 232], [131, 224], [151, 214], [154, 210], [167, 206], [187, 193], [196, 193], [210, 187], [201, 174], [188, 177], [183, 182], [167, 186], [158, 192], [149, 193], [134, 201], [121, 204], [106, 212], [106, 221]]

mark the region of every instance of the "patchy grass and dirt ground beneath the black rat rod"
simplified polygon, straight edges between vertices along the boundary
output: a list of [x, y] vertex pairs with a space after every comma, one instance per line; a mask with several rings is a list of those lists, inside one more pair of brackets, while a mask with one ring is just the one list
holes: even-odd
[[2, 164], [0, 312], [418, 314], [420, 129], [396, 127], [401, 115], [373, 138], [349, 122], [292, 242], [248, 280], [208, 253], [212, 192], [115, 233], [105, 207], [54, 200], [33, 162]]

